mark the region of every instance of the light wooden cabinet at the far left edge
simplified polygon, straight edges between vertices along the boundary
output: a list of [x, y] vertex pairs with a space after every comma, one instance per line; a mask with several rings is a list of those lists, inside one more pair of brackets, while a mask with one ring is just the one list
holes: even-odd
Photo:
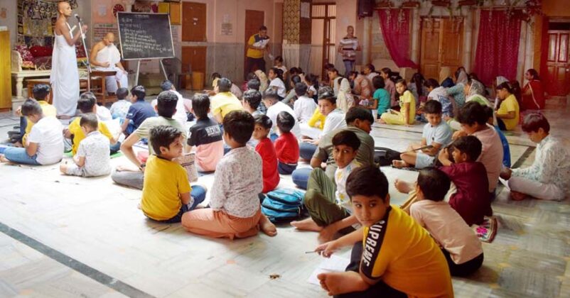
[[0, 111], [12, 109], [10, 31], [0, 31]]

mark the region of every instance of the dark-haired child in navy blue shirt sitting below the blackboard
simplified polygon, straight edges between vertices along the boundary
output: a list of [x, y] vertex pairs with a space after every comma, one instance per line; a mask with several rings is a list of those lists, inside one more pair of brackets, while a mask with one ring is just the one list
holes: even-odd
[[122, 126], [125, 137], [136, 131], [136, 128], [139, 128], [146, 118], [156, 116], [152, 105], [144, 101], [144, 96], [146, 96], [146, 89], [143, 86], [138, 85], [131, 89], [130, 99], [132, 104], [129, 106], [129, 111], [127, 111], [127, 116], [125, 116]]

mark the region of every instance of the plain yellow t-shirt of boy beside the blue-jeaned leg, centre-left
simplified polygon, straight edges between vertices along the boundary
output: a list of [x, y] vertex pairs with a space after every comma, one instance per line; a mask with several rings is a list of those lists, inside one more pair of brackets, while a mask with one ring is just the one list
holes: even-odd
[[157, 221], [171, 219], [182, 206], [180, 194], [190, 192], [188, 174], [177, 162], [151, 155], [146, 160], [141, 209]]

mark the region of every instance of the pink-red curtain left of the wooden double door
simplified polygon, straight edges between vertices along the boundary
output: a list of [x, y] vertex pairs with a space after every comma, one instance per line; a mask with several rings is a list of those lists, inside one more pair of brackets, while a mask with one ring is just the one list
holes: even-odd
[[418, 68], [409, 57], [409, 9], [380, 9], [380, 28], [392, 60], [398, 67]]

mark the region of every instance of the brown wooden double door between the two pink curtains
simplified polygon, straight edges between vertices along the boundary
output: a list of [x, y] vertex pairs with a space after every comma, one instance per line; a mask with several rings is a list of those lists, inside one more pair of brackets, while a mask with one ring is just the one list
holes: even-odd
[[463, 65], [463, 18], [421, 19], [420, 71], [426, 79], [439, 79], [441, 67], [452, 72]]

